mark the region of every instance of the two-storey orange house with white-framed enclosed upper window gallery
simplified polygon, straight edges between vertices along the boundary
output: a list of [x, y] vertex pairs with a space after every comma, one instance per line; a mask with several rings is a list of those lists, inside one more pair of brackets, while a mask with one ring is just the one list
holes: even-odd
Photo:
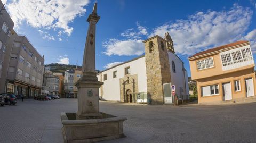
[[255, 98], [255, 64], [249, 41], [208, 49], [188, 60], [199, 104]]

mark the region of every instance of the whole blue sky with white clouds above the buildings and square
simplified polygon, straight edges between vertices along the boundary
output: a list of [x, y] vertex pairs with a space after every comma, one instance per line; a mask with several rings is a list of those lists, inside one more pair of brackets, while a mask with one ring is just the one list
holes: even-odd
[[[82, 65], [93, 2], [5, 0], [17, 33], [25, 34], [45, 64]], [[250, 40], [256, 53], [256, 1], [98, 1], [96, 67], [99, 70], [143, 54], [142, 41], [168, 31], [185, 63], [199, 51]]]

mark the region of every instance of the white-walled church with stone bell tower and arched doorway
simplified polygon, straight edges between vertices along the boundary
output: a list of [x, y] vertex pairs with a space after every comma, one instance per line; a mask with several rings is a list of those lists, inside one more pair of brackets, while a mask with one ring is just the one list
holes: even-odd
[[[145, 55], [97, 75], [98, 80], [104, 82], [99, 89], [100, 98], [154, 105], [174, 103], [170, 87], [175, 85], [175, 96], [189, 99], [187, 71], [174, 52], [169, 33], [165, 33], [165, 38], [156, 35], [143, 43]], [[170, 98], [168, 101], [167, 97]]]

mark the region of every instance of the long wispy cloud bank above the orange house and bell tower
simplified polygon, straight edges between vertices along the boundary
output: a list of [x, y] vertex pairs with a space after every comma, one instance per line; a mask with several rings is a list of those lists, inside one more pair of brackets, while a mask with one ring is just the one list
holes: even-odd
[[197, 12], [188, 16], [188, 20], [176, 20], [155, 28], [149, 37], [163, 37], [168, 31], [177, 53], [193, 55], [213, 46], [243, 39], [252, 14], [252, 10], [237, 4], [229, 11]]

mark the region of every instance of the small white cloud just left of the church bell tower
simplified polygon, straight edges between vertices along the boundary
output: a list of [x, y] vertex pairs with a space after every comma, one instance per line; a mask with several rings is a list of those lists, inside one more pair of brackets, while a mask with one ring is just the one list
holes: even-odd
[[131, 55], [141, 55], [144, 53], [143, 40], [140, 39], [128, 39], [128, 40], [118, 40], [115, 38], [103, 43], [103, 47], [106, 48], [104, 54], [118, 55], [118, 56], [131, 56]]

